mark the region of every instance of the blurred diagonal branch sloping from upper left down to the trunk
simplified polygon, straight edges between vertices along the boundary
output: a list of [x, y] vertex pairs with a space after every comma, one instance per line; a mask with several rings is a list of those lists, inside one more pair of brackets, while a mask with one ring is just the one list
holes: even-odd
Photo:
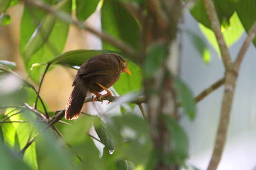
[[122, 50], [123, 52], [125, 52], [129, 56], [131, 56], [134, 61], [137, 61], [138, 56], [137, 56], [135, 50], [131, 46], [126, 44], [125, 42], [123, 42], [121, 40], [114, 39], [111, 35], [99, 32], [90, 26], [86, 26], [85, 23], [72, 19], [72, 17], [70, 17], [66, 13], [57, 11], [56, 9], [51, 8], [49, 5], [47, 5], [46, 3], [42, 2], [42, 1], [38, 1], [38, 0], [24, 0], [24, 1], [29, 5], [41, 8], [41, 9], [51, 13], [52, 15], [54, 15], [55, 17], [57, 17], [58, 19], [61, 19], [62, 21], [66, 22], [66, 23], [73, 24], [74, 26], [77, 26], [78, 28], [84, 29], [92, 34], [95, 34], [101, 40], [111, 43], [115, 47], [119, 48], [120, 50]]

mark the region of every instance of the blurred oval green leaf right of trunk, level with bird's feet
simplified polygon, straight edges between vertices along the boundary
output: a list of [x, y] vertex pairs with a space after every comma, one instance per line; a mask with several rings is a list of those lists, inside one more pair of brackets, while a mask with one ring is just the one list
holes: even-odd
[[175, 78], [174, 85], [185, 113], [190, 119], [194, 119], [196, 116], [196, 106], [190, 88], [178, 78]]

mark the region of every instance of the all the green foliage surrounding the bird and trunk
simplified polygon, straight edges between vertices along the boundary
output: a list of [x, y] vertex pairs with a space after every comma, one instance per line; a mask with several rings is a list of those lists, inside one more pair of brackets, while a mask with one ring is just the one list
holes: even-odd
[[[72, 6], [73, 9], [76, 7], [76, 18], [79, 21], [85, 21], [95, 10], [101, 10], [102, 31], [127, 43], [141, 55], [144, 52], [145, 58], [143, 64], [136, 62], [125, 51], [107, 41], [103, 41], [103, 50], [75, 50], [63, 53], [71, 23], [25, 3], [20, 23], [20, 53], [33, 83], [38, 85], [40, 80], [43, 80], [43, 73], [50, 70], [46, 70], [46, 66], [51, 66], [51, 69], [57, 65], [77, 68], [96, 54], [114, 52], [128, 60], [133, 74], [122, 75], [114, 85], [118, 94], [125, 95], [143, 91], [143, 81], [151, 80], [166, 64], [165, 57], [169, 47], [161, 44], [161, 41], [142, 46], [142, 38], [147, 36], [143, 34], [142, 25], [148, 23], [143, 23], [142, 18], [134, 15], [129, 8], [141, 8], [140, 12], [146, 15], [149, 11], [145, 0], [42, 1], [53, 10], [65, 12], [67, 16], [71, 16]], [[8, 25], [11, 22], [5, 12], [17, 3], [18, 0], [0, 0], [0, 25]], [[228, 46], [236, 42], [244, 30], [249, 31], [256, 19], [255, 3], [255, 0], [214, 0]], [[219, 48], [211, 31], [203, 0], [198, 0], [190, 12], [198, 21], [205, 37], [191, 30], [186, 30], [186, 33], [199, 51], [199, 56], [209, 63], [210, 54], [205, 38], [216, 51], [219, 52]], [[256, 40], [254, 44], [256, 45]], [[43, 100], [37, 99], [38, 93], [33, 85], [13, 71], [15, 65], [10, 61], [0, 60], [0, 109], [6, 109], [0, 122], [0, 162], [5, 170], [14, 170], [17, 167], [20, 170], [149, 170], [154, 168], [159, 159], [163, 159], [166, 164], [186, 166], [189, 141], [179, 121], [171, 117], [163, 118], [174, 146], [172, 152], [159, 158], [159, 153], [154, 150], [152, 129], [147, 121], [134, 114], [134, 106], [127, 110], [122, 106], [122, 114], [108, 118], [106, 122], [97, 116], [82, 115], [78, 120], [68, 122], [71, 126], [57, 123], [48, 129], [47, 123], [51, 119], [47, 118], [47, 114], [53, 119], [54, 111], [50, 111]], [[180, 105], [192, 120], [196, 117], [193, 94], [183, 81], [177, 77], [173, 79]], [[35, 102], [37, 108], [34, 107]], [[87, 135], [93, 126], [98, 141], [104, 144], [102, 154], [92, 138]], [[54, 134], [59, 134], [63, 139]], [[20, 152], [33, 136], [37, 137], [36, 142], [25, 149], [25, 153]]]

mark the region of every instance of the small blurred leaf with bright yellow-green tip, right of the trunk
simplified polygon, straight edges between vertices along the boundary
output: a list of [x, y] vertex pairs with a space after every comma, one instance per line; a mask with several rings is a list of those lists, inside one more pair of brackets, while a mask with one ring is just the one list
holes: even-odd
[[211, 56], [210, 56], [209, 49], [207, 48], [207, 44], [204, 41], [204, 39], [201, 38], [198, 34], [194, 33], [191, 30], [185, 30], [185, 33], [187, 33], [189, 35], [191, 43], [198, 50], [198, 52], [200, 53], [204, 62], [206, 64], [208, 64], [210, 62]]

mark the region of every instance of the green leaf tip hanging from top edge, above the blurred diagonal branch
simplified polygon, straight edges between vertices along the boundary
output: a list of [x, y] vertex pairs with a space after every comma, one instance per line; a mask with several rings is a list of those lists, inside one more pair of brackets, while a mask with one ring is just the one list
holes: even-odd
[[85, 21], [90, 17], [100, 0], [76, 0], [76, 17], [80, 21]]

